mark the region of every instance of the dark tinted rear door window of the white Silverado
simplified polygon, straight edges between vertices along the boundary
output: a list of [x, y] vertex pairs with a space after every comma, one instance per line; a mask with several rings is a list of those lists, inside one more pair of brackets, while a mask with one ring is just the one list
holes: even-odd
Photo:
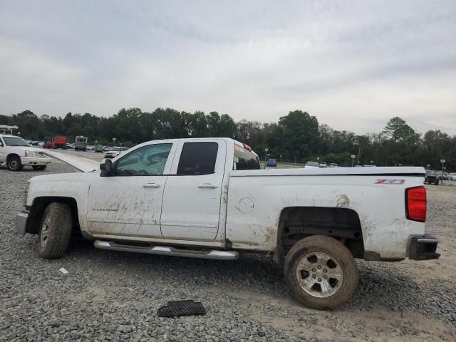
[[177, 175], [209, 175], [215, 172], [217, 142], [185, 142], [180, 153]]

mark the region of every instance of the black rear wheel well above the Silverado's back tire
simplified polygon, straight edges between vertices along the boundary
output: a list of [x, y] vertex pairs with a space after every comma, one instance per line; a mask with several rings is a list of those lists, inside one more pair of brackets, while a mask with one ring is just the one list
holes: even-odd
[[277, 242], [284, 255], [300, 239], [311, 235], [334, 237], [346, 245], [353, 257], [363, 257], [363, 231], [353, 209], [287, 207], [282, 210]]

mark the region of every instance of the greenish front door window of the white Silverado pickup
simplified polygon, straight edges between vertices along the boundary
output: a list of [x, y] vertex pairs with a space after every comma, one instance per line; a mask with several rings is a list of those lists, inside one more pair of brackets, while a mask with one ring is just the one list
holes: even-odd
[[147, 145], [120, 158], [115, 167], [116, 176], [163, 175], [172, 144]]

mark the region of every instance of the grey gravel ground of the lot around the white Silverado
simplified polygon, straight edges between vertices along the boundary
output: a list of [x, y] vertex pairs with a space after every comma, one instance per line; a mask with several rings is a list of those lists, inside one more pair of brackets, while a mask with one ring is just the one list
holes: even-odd
[[[34, 175], [0, 168], [0, 341], [456, 341], [456, 186], [427, 187], [437, 261], [359, 261], [359, 286], [335, 311], [290, 299], [270, 257], [210, 261], [107, 252], [86, 240], [43, 260], [15, 214]], [[61, 267], [68, 274], [58, 271]], [[205, 316], [158, 318], [167, 301], [202, 301]]]

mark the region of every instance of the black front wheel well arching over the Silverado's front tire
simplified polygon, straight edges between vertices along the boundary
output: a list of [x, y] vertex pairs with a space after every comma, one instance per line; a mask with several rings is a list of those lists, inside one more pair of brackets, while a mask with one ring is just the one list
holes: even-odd
[[78, 204], [76, 199], [71, 197], [37, 197], [33, 199], [33, 204], [28, 212], [26, 232], [38, 234], [43, 212], [52, 202], [66, 203], [71, 207], [71, 216], [73, 217], [73, 229], [80, 230], [78, 219]]

